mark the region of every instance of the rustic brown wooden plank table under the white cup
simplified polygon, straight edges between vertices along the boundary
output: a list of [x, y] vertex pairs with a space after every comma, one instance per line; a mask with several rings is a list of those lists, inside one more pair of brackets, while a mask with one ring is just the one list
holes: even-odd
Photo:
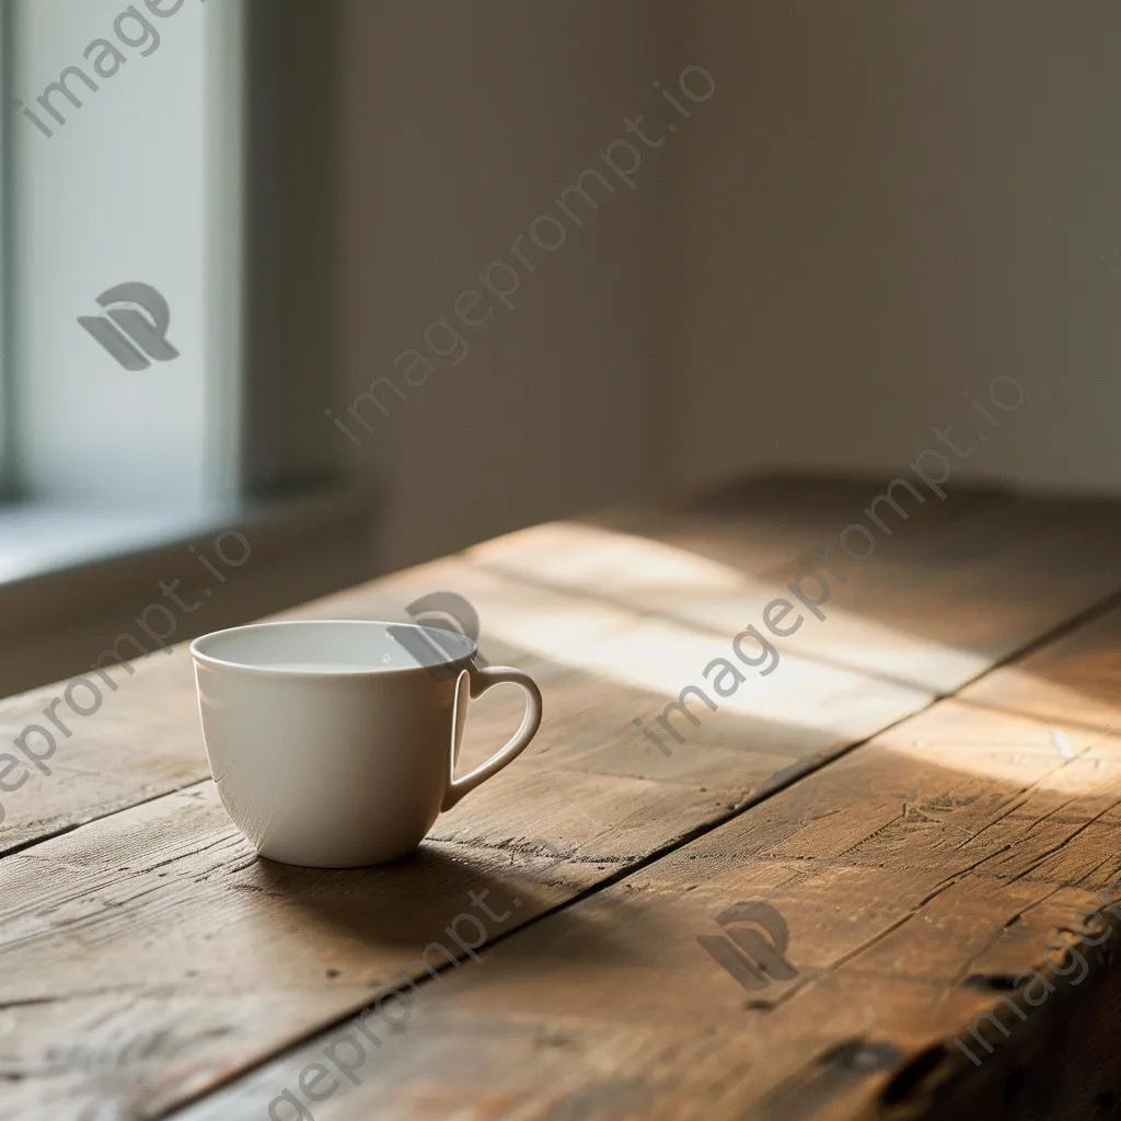
[[[543, 526], [290, 612], [453, 591], [541, 685], [534, 745], [390, 867], [256, 859], [186, 650], [139, 663], [2, 795], [0, 1115], [1109, 1117], [1118, 507], [956, 491], [892, 515], [871, 559], [831, 554], [845, 580], [773, 673], [691, 702], [669, 754], [633, 723], [881, 489]], [[513, 726], [506, 692], [463, 766]], [[3, 703], [0, 742], [58, 693]]]

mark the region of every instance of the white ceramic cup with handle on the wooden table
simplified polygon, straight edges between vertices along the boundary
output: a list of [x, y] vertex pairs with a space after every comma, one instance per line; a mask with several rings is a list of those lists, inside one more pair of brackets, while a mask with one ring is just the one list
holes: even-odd
[[[355, 868], [413, 852], [437, 816], [525, 750], [541, 694], [519, 669], [472, 661], [474, 642], [413, 623], [256, 623], [191, 643], [222, 803], [258, 853]], [[456, 778], [467, 700], [526, 691], [513, 739]]]

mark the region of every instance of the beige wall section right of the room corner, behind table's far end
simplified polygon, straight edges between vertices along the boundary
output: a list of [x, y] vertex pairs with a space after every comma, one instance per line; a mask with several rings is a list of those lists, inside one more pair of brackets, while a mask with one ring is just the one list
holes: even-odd
[[892, 471], [1009, 373], [1025, 406], [958, 466], [1121, 487], [1121, 7], [682, 11], [720, 85], [688, 137], [676, 470]]

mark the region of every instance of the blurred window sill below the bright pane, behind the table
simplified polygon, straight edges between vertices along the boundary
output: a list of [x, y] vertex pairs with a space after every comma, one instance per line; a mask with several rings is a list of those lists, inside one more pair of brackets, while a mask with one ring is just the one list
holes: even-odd
[[87, 669], [149, 608], [182, 642], [368, 580], [372, 515], [341, 489], [175, 516], [0, 506], [0, 696]]

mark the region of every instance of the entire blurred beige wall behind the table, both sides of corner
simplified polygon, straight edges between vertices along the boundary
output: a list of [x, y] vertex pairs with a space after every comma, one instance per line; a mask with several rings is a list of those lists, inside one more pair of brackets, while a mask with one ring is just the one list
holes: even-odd
[[[958, 478], [1121, 488], [1121, 8], [343, 9], [340, 414], [624, 114], [665, 123], [655, 78], [717, 82], [638, 189], [522, 243], [462, 364], [337, 434], [379, 567], [759, 466], [893, 472], [951, 423], [986, 432]], [[999, 432], [963, 397], [997, 374], [1028, 395]]]

